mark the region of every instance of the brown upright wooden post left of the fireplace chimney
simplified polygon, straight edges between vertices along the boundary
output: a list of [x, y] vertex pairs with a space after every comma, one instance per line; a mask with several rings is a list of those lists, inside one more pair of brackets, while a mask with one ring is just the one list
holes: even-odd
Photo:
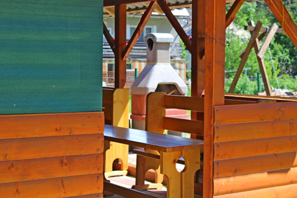
[[126, 5], [115, 6], [115, 88], [126, 88], [126, 61], [122, 53], [126, 48]]

